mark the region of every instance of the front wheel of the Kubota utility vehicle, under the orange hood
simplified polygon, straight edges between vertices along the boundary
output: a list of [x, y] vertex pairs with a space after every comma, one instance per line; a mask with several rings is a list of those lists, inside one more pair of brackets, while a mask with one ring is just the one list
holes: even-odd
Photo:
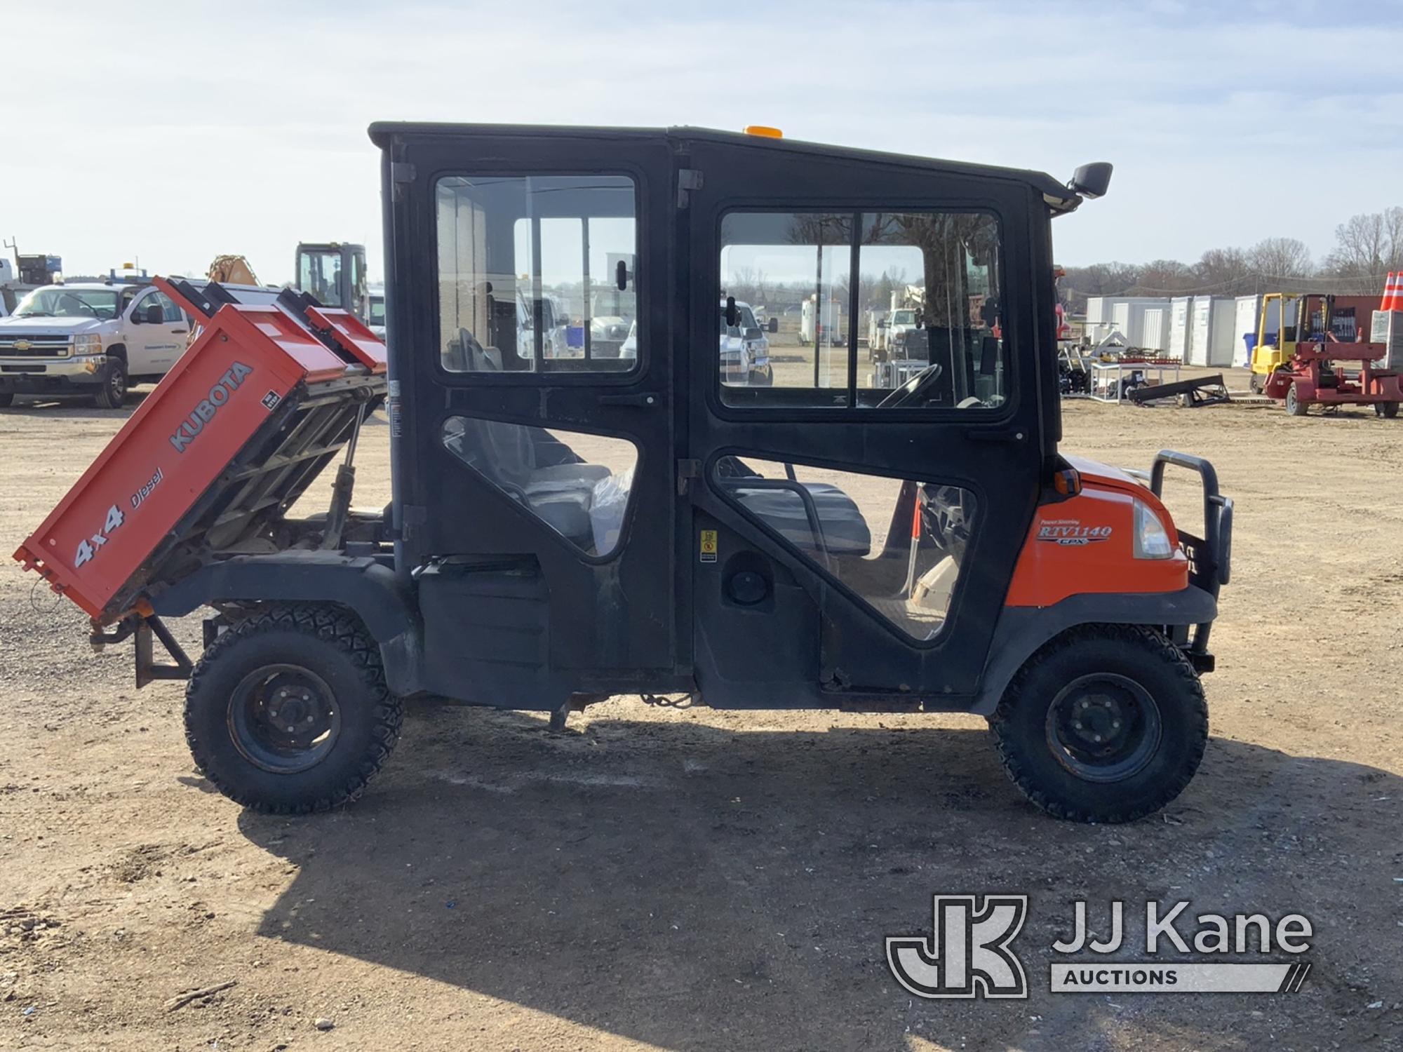
[[1194, 777], [1208, 706], [1194, 666], [1159, 633], [1086, 626], [1027, 661], [989, 725], [1033, 804], [1073, 822], [1132, 822]]

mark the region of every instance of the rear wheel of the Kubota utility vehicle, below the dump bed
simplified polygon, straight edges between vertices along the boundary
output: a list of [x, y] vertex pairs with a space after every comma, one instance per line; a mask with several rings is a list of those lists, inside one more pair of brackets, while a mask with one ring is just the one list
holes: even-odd
[[185, 690], [185, 741], [230, 800], [292, 815], [349, 804], [400, 735], [380, 649], [333, 606], [285, 606], [222, 633]]

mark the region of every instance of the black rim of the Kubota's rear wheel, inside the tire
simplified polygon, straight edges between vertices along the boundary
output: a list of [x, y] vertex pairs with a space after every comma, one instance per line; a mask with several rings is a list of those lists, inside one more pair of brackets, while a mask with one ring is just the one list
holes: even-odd
[[229, 697], [229, 736], [239, 753], [274, 774], [321, 763], [341, 736], [331, 687], [300, 665], [265, 665]]

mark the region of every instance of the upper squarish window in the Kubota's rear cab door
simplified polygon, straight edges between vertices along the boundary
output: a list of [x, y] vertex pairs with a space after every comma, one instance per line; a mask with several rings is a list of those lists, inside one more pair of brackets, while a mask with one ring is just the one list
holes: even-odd
[[439, 180], [443, 367], [636, 367], [634, 196], [623, 175]]

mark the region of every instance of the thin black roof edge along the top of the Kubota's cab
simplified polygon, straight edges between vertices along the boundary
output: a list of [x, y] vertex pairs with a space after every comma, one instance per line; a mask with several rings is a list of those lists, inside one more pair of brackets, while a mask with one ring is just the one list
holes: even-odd
[[798, 139], [772, 139], [769, 136], [746, 135], [744, 132], [723, 132], [714, 128], [692, 128], [682, 125], [678, 128], [607, 128], [607, 126], [574, 126], [574, 125], [490, 125], [490, 123], [435, 123], [415, 121], [376, 121], [369, 128], [370, 142], [382, 150], [394, 136], [432, 137], [432, 136], [523, 136], [523, 137], [551, 137], [579, 139], [579, 137], [609, 137], [609, 139], [666, 139], [675, 144], [689, 142], [714, 142], [727, 146], [742, 146], [753, 150], [780, 150], [786, 153], [801, 153], [808, 156], [846, 157], [859, 161], [880, 161], [882, 164], [905, 164], [929, 168], [954, 175], [974, 175], [981, 178], [1013, 180], [1024, 182], [1042, 195], [1044, 202], [1052, 212], [1072, 212], [1082, 203], [1080, 195], [1069, 189], [1062, 182], [1048, 175], [1045, 171], [1031, 168], [1005, 168], [996, 164], [972, 164], [969, 161], [950, 161], [937, 157], [920, 157], [906, 153], [890, 153], [885, 150], [861, 150], [852, 146], [831, 146], [826, 143], [811, 143]]

